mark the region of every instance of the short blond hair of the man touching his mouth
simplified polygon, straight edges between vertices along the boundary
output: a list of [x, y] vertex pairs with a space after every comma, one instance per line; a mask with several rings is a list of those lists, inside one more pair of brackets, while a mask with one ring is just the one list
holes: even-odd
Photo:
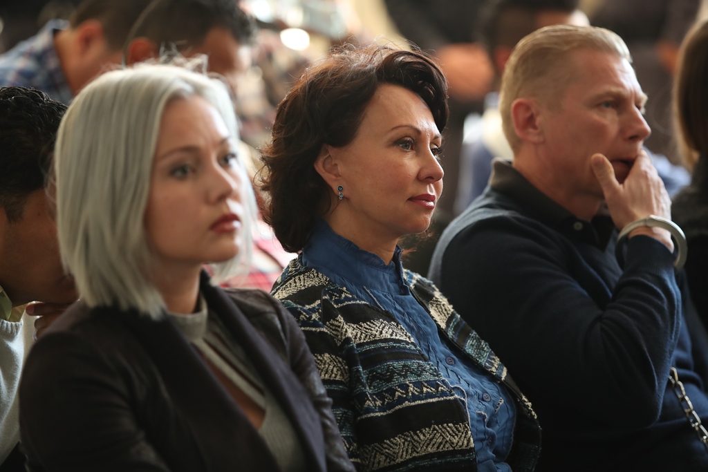
[[521, 97], [536, 98], [547, 106], [559, 103], [574, 77], [568, 52], [576, 50], [607, 52], [632, 62], [622, 38], [605, 28], [553, 25], [523, 38], [506, 63], [499, 97], [504, 134], [514, 151], [520, 138], [511, 119], [512, 103]]

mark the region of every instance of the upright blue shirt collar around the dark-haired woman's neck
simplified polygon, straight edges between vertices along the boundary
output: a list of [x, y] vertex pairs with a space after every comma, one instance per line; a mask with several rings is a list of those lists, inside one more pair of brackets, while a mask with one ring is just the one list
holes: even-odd
[[403, 250], [396, 246], [393, 260], [386, 264], [378, 255], [364, 251], [336, 234], [326, 221], [319, 219], [302, 250], [302, 263], [315, 267], [330, 278], [336, 275], [355, 285], [380, 292], [408, 294], [401, 265]]

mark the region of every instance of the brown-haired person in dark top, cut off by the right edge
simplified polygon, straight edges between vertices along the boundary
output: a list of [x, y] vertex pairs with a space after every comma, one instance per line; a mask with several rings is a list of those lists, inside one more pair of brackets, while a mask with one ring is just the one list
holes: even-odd
[[690, 185], [673, 199], [671, 216], [688, 243], [691, 298], [708, 326], [708, 22], [695, 25], [681, 47], [674, 83], [674, 121]]

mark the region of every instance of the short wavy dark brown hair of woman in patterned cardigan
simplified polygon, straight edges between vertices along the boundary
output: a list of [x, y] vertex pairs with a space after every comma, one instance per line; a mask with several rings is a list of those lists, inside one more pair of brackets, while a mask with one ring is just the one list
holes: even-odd
[[302, 250], [330, 207], [332, 189], [314, 168], [323, 144], [352, 142], [380, 84], [416, 93], [438, 130], [445, 128], [447, 80], [435, 59], [389, 45], [338, 47], [304, 71], [278, 105], [273, 140], [261, 149], [262, 188], [270, 196], [263, 217], [287, 251]]

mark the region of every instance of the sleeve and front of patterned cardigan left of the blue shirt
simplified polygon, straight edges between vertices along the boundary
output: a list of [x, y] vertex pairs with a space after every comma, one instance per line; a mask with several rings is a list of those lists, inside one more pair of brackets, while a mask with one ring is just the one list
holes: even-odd
[[[298, 313], [358, 470], [417, 470], [423, 464], [428, 470], [451, 464], [462, 470], [475, 463], [464, 406], [395, 318], [333, 286], [319, 272], [302, 270], [296, 261], [273, 294]], [[374, 318], [348, 323], [341, 314], [360, 309], [375, 310]], [[349, 364], [348, 359], [356, 360]], [[362, 359], [376, 361], [362, 364]], [[445, 422], [435, 424], [441, 418]]]

